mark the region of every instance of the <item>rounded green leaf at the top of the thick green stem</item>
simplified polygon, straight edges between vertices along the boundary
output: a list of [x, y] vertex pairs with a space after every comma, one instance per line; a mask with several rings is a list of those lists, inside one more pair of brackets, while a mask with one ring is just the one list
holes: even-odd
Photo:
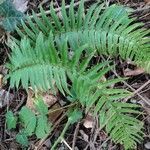
[[82, 118], [82, 111], [75, 109], [68, 112], [69, 121], [71, 124], [78, 122]]

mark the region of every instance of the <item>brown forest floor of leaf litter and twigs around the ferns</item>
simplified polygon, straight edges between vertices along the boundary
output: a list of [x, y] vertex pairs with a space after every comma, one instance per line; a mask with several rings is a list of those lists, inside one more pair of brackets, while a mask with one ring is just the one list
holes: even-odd
[[[66, 0], [66, 2], [69, 5], [70, 0]], [[76, 2], [78, 3], [78, 1]], [[86, 2], [86, 7], [88, 8], [94, 2], [96, 2], [96, 0], [88, 0]], [[131, 16], [136, 17], [137, 21], [144, 23], [145, 28], [150, 29], [150, 0], [108, 0], [105, 1], [105, 3], [107, 3], [107, 5], [119, 3], [133, 8], [134, 12]], [[50, 0], [28, 0], [25, 13], [30, 14], [31, 10], [39, 13], [40, 5], [48, 10]], [[61, 0], [55, 0], [56, 8], [59, 8], [60, 5]], [[33, 93], [32, 90], [30, 90], [29, 93], [26, 93], [22, 88], [16, 91], [15, 89], [9, 88], [9, 83], [2, 83], [2, 78], [8, 71], [4, 67], [9, 54], [9, 48], [5, 44], [8, 33], [0, 29], [0, 36], [0, 150], [19, 150], [21, 149], [20, 145], [12, 138], [17, 131], [10, 132], [6, 130], [5, 113], [8, 108], [17, 112], [24, 105], [32, 107], [29, 100], [32, 99]], [[137, 68], [130, 64], [130, 62], [118, 59], [115, 63], [117, 64], [117, 68], [114, 75], [128, 77], [128, 80], [125, 81], [122, 86], [123, 88], [134, 92], [134, 96], [127, 99], [127, 101], [140, 104], [142, 106], [142, 111], [144, 112], [141, 119], [144, 122], [145, 135], [144, 140], [138, 145], [137, 149], [150, 149], [150, 75], [146, 74], [142, 68]], [[65, 103], [59, 95], [54, 96], [44, 93], [43, 97], [46, 101], [52, 101], [49, 108], [60, 108], [61, 105]], [[63, 128], [65, 120], [61, 120], [61, 117], [62, 112], [56, 112], [55, 114], [52, 114], [52, 116], [49, 116], [49, 118], [56, 123], [53, 134], [47, 139], [44, 139], [42, 143], [34, 137], [30, 138], [31, 144], [28, 149], [49, 149], [51, 147], [51, 141], [53, 141], [53, 138], [56, 139], [58, 137]], [[69, 145], [73, 145], [75, 150], [123, 150], [123, 147], [121, 145], [115, 145], [103, 130], [98, 130], [97, 120], [90, 114], [85, 117], [82, 122], [69, 128], [65, 135], [65, 141]], [[97, 145], [100, 145], [99, 148], [96, 148]], [[59, 147], [59, 150], [69, 149], [64, 143], [60, 144]]]

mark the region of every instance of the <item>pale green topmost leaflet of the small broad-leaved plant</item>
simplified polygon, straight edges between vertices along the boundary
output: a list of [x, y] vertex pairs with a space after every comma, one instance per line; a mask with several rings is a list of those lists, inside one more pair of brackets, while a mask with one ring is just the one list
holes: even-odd
[[35, 107], [41, 115], [46, 115], [48, 113], [48, 107], [44, 103], [42, 97], [38, 97], [35, 99]]

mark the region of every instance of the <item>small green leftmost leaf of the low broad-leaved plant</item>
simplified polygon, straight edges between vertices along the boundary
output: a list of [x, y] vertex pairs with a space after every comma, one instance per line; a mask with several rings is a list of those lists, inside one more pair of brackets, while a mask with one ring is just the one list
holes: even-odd
[[16, 128], [16, 123], [17, 123], [17, 117], [14, 116], [12, 111], [8, 111], [6, 113], [6, 124], [7, 124], [7, 129], [14, 129]]

